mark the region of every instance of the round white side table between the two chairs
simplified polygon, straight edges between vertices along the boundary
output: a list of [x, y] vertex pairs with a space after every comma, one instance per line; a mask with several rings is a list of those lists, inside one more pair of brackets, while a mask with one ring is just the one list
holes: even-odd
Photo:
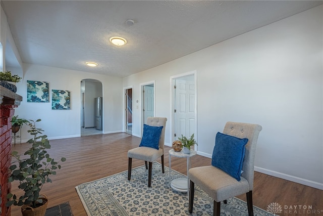
[[[174, 190], [178, 192], [188, 192], [189, 190], [189, 179], [188, 179], [188, 170], [191, 167], [191, 157], [196, 155], [196, 151], [191, 150], [189, 154], [183, 153], [183, 150], [180, 152], [174, 151], [174, 149], [171, 149], [169, 151], [169, 159], [170, 159], [170, 186]], [[187, 158], [186, 161], [186, 169], [187, 169], [187, 177], [186, 178], [177, 178], [177, 179], [171, 179], [171, 156], [174, 157], [182, 157]]]

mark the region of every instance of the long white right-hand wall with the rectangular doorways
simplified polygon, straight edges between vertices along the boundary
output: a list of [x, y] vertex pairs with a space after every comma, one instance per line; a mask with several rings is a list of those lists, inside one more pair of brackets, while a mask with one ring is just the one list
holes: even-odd
[[[169, 120], [170, 77], [197, 71], [198, 152], [211, 156], [227, 121], [263, 129], [256, 170], [323, 189], [322, 6], [125, 77], [139, 100], [139, 83], [155, 80], [156, 116]], [[140, 134], [140, 109], [133, 133]]]

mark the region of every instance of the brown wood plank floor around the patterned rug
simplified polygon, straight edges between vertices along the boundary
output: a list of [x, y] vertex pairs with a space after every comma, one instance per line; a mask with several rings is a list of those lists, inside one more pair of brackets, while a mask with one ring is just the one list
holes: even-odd
[[[140, 138], [125, 133], [50, 141], [51, 149], [48, 151], [50, 156], [56, 159], [66, 157], [67, 161], [62, 163], [62, 169], [57, 171], [57, 175], [51, 177], [52, 183], [46, 183], [41, 190], [41, 193], [49, 198], [48, 208], [69, 202], [75, 216], [86, 215], [75, 187], [127, 170], [127, 151], [137, 147], [139, 143]], [[13, 150], [20, 153], [23, 153], [27, 148], [29, 148], [28, 144], [13, 146]], [[166, 147], [165, 150], [166, 166], [169, 166], [169, 149], [171, 148]], [[160, 159], [157, 161], [160, 163]], [[209, 165], [210, 163], [210, 158], [200, 155], [191, 159], [192, 167]], [[133, 167], [143, 164], [143, 161], [133, 159]], [[186, 175], [186, 160], [172, 157], [172, 168]], [[12, 192], [19, 193], [17, 185], [17, 183], [12, 184]], [[246, 200], [245, 196], [238, 198]], [[288, 208], [291, 205], [297, 205], [297, 212], [292, 210], [292, 213], [284, 212], [280, 215], [323, 215], [322, 190], [255, 172], [253, 204], [266, 209], [273, 202], [279, 203], [283, 209], [285, 205]], [[300, 210], [299, 205], [311, 205], [311, 213], [304, 214], [303, 207]], [[313, 210], [316, 213], [313, 213]], [[318, 210], [320, 212], [317, 212]], [[20, 207], [12, 206], [11, 215], [21, 215]]]

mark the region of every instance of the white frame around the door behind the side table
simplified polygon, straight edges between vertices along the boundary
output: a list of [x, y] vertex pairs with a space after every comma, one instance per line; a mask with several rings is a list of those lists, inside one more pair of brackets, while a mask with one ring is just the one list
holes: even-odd
[[[197, 137], [198, 137], [198, 134], [197, 134], [197, 77], [196, 77], [196, 70], [194, 71], [190, 71], [190, 72], [186, 72], [186, 73], [181, 73], [181, 74], [178, 74], [178, 75], [175, 75], [175, 76], [171, 76], [170, 77], [170, 99], [171, 99], [171, 103], [170, 103], [170, 131], [171, 131], [171, 134], [170, 134], [170, 141], [171, 143], [173, 143], [175, 141], [175, 138], [174, 138], [174, 134], [175, 134], [175, 116], [174, 116], [174, 109], [175, 109], [175, 105], [174, 105], [174, 100], [175, 100], [175, 91], [174, 91], [174, 85], [175, 85], [175, 80], [180, 78], [180, 77], [184, 77], [184, 76], [191, 76], [193, 75], [194, 76], [194, 85], [195, 85], [195, 101], [194, 101], [194, 109], [195, 109], [195, 112], [194, 112], [194, 118], [195, 118], [195, 125], [194, 125], [194, 138], [195, 140], [197, 141]], [[194, 145], [194, 149], [195, 151], [197, 151], [197, 145]]]

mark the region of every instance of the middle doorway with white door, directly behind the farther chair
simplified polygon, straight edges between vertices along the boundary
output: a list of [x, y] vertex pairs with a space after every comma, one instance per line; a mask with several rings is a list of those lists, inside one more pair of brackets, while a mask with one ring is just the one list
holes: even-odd
[[141, 83], [141, 134], [143, 132], [143, 124], [147, 122], [148, 117], [155, 116], [155, 82]]

